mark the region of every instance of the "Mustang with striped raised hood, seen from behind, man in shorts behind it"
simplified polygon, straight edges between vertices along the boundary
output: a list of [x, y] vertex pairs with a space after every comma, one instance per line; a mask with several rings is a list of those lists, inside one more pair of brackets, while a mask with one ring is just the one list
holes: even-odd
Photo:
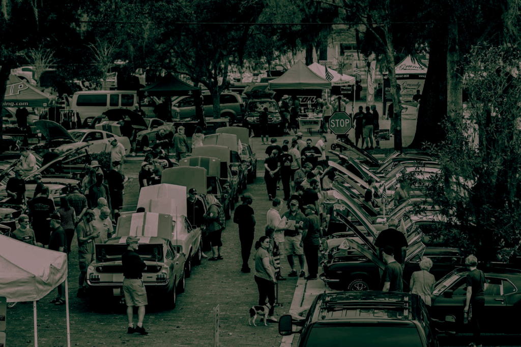
[[148, 299], [166, 301], [167, 306], [173, 309], [177, 295], [184, 291], [186, 260], [170, 241], [173, 233], [172, 217], [168, 214], [141, 212], [122, 215], [118, 220], [116, 236], [95, 245], [95, 258], [86, 276], [93, 301], [123, 295], [121, 255], [127, 249], [127, 236], [132, 235], [139, 237], [136, 252], [146, 264], [143, 283]]

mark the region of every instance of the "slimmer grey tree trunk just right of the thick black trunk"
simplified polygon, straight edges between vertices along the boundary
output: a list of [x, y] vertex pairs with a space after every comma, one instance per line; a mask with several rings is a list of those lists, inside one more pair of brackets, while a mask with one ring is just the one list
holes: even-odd
[[449, 23], [447, 43], [447, 112], [449, 119], [463, 115], [463, 85], [460, 67], [460, 47], [458, 47], [458, 28], [455, 16]]

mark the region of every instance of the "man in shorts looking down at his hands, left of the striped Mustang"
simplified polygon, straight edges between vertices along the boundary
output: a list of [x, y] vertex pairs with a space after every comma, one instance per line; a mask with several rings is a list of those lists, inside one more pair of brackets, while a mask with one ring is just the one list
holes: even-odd
[[78, 262], [80, 265], [80, 278], [78, 289], [78, 297], [83, 297], [86, 294], [85, 277], [87, 275], [87, 268], [92, 262], [94, 254], [94, 239], [100, 237], [100, 233], [94, 234], [94, 227], [92, 221], [94, 220], [94, 212], [86, 210], [81, 221], [76, 226], [76, 235], [78, 237]]

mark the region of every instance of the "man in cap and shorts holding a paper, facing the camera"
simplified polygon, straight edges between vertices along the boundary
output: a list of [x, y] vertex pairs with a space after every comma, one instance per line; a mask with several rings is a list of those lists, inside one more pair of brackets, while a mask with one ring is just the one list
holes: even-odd
[[288, 221], [288, 228], [284, 231], [284, 254], [288, 256], [288, 263], [291, 267], [289, 277], [296, 277], [295, 262], [293, 252], [299, 257], [300, 277], [304, 277], [304, 250], [302, 248], [302, 225], [306, 216], [299, 209], [299, 201], [290, 199], [290, 209], [282, 215]]

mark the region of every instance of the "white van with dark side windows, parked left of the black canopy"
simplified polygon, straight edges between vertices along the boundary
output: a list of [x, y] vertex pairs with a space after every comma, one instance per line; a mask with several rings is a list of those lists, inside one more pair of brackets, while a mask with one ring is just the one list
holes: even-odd
[[97, 117], [111, 109], [134, 110], [136, 104], [138, 104], [136, 91], [82, 91], [72, 95], [71, 109], [77, 111], [83, 121], [85, 118]]

